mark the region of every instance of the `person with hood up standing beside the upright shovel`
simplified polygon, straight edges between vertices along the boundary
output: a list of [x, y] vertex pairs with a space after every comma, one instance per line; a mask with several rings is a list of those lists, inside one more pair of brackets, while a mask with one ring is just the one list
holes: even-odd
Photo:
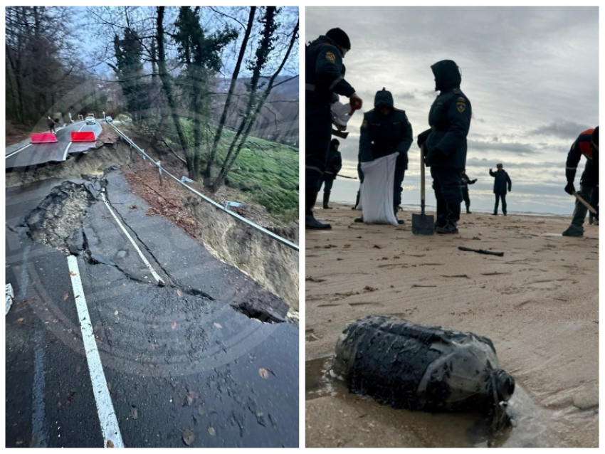
[[439, 95], [428, 112], [430, 130], [418, 136], [426, 165], [431, 167], [437, 200], [437, 233], [458, 233], [462, 189], [460, 174], [466, 166], [466, 136], [472, 108], [462, 93], [460, 69], [453, 60], [441, 60], [431, 66], [435, 90]]

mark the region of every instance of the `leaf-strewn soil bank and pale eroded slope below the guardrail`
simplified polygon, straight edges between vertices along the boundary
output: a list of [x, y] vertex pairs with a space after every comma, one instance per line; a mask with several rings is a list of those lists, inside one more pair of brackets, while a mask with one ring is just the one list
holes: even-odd
[[[145, 149], [147, 152], [147, 149]], [[168, 167], [162, 163], [162, 167]], [[175, 176], [183, 169], [169, 169]], [[265, 290], [288, 303], [290, 320], [298, 320], [298, 253], [277, 243], [227, 213], [199, 199], [174, 180], [162, 177], [160, 183], [157, 167], [143, 161], [139, 154], [133, 156], [122, 171], [132, 191], [150, 206], [149, 216], [162, 215], [171, 219], [184, 231], [204, 243], [219, 260], [235, 266], [256, 280]], [[211, 193], [196, 184], [196, 191], [223, 205], [225, 201], [237, 201], [238, 191], [222, 187]], [[298, 222], [286, 228], [275, 225], [261, 206], [245, 205], [233, 208], [264, 228], [298, 243]]]

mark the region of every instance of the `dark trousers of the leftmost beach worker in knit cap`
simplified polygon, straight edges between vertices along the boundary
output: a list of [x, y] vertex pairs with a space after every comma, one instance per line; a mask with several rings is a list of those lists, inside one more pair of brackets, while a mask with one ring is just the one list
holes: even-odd
[[312, 215], [317, 201], [332, 138], [329, 104], [305, 106], [305, 216]]

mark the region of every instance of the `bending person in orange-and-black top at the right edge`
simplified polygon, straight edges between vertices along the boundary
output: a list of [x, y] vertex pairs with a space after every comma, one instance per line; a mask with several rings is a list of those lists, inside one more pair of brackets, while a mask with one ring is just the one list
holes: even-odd
[[[586, 164], [580, 178], [580, 191], [577, 193], [585, 201], [591, 200], [591, 195], [599, 185], [599, 127], [594, 130], [586, 130], [582, 132], [572, 148], [567, 153], [567, 162], [565, 163], [565, 177], [567, 178], [567, 186], [565, 192], [574, 194], [576, 188], [574, 179], [582, 154], [586, 157]], [[584, 236], [584, 218], [588, 208], [579, 200], [576, 200], [576, 207], [571, 225], [563, 232], [563, 236]]]

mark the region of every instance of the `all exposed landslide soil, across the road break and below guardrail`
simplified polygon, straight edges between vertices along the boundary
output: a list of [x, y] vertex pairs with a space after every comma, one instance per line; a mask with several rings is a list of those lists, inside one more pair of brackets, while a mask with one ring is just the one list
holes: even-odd
[[[148, 143], [138, 138], [135, 142], [141, 142], [140, 146], [145, 152], [157, 159]], [[162, 155], [162, 167], [174, 176], [186, 173], [179, 159], [169, 155]], [[202, 241], [216, 258], [240, 269], [265, 290], [284, 300], [290, 307], [289, 320], [298, 322], [298, 252], [236, 221], [227, 213], [202, 201], [165, 174], [160, 182], [157, 167], [149, 163], [149, 160], [143, 160], [138, 152], [118, 139], [110, 128], [104, 128], [96, 149], [91, 149], [87, 154], [70, 157], [65, 162], [47, 164], [28, 171], [11, 171], [6, 174], [6, 186], [19, 186], [43, 179], [102, 178], [107, 171], [117, 169], [124, 172], [132, 191], [151, 206], [147, 210], [148, 216], [165, 216], [190, 236]], [[216, 194], [211, 194], [199, 186], [196, 186], [196, 190], [221, 205], [227, 200], [241, 200], [238, 191], [224, 186]], [[73, 194], [84, 196], [85, 192], [78, 190]], [[60, 204], [55, 205], [51, 207], [50, 212], [56, 211], [57, 216], [61, 217]], [[70, 196], [68, 206], [76, 205], [78, 204]], [[233, 208], [233, 211], [298, 243], [298, 222], [288, 227], [277, 226], [261, 206], [243, 205]], [[34, 219], [33, 222], [35, 221]], [[61, 226], [58, 226], [58, 229], [61, 230]], [[62, 238], [66, 238], [64, 234], [65, 232], [61, 231]], [[53, 242], [52, 238], [46, 239], [51, 246], [63, 250], [68, 247], [68, 244], [61, 241], [61, 244], [54, 244], [56, 241]]]

